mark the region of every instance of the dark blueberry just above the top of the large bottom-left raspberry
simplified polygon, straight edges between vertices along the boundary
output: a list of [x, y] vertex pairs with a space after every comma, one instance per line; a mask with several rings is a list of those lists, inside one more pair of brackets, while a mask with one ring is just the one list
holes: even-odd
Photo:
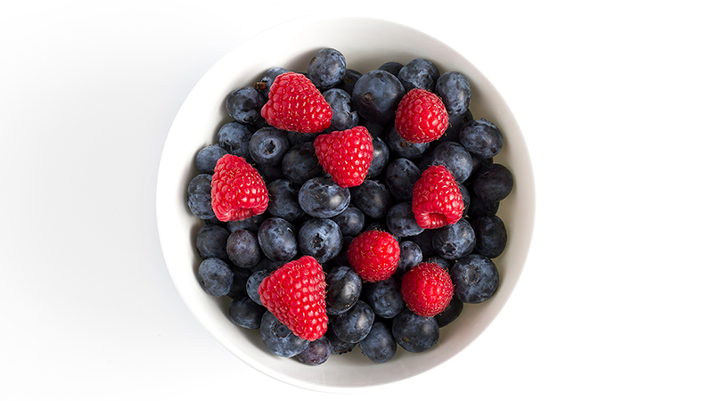
[[313, 218], [299, 228], [298, 243], [303, 255], [327, 262], [340, 253], [340, 227], [329, 218]]

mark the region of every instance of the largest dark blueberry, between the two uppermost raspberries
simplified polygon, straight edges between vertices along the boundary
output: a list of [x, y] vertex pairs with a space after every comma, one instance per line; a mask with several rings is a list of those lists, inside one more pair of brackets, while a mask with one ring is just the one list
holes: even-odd
[[360, 116], [379, 124], [396, 119], [398, 102], [406, 94], [401, 81], [393, 74], [372, 70], [356, 81], [352, 100]]

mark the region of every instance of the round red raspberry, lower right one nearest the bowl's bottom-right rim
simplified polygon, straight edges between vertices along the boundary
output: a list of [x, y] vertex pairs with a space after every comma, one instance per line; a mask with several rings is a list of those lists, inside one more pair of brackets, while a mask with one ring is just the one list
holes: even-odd
[[415, 266], [401, 279], [401, 297], [406, 307], [421, 316], [443, 312], [453, 298], [453, 289], [450, 274], [435, 263]]

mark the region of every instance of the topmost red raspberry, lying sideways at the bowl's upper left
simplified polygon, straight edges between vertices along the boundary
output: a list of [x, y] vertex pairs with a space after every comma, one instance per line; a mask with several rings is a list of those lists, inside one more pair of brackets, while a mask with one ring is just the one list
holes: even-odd
[[297, 72], [275, 78], [260, 115], [275, 128], [304, 134], [324, 131], [332, 123], [332, 107], [315, 84]]

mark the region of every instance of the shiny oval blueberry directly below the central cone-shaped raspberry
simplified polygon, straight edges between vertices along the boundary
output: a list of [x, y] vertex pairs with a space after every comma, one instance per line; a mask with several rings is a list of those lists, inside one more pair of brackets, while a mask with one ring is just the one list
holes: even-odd
[[299, 188], [299, 206], [312, 217], [335, 217], [349, 206], [351, 194], [324, 176], [311, 178]]

